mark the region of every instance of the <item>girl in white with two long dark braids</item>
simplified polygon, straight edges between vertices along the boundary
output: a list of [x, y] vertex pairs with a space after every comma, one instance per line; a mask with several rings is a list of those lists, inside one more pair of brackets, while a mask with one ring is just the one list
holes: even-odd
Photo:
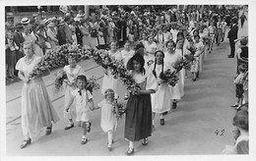
[[152, 98], [152, 111], [153, 111], [153, 129], [155, 127], [154, 120], [155, 115], [160, 114], [160, 125], [164, 125], [164, 119], [162, 113], [170, 110], [170, 90], [166, 81], [161, 80], [161, 75], [167, 70], [167, 67], [163, 63], [164, 54], [162, 51], [157, 51], [155, 54], [156, 61], [151, 66], [151, 70], [158, 80], [159, 90], [151, 95]]

